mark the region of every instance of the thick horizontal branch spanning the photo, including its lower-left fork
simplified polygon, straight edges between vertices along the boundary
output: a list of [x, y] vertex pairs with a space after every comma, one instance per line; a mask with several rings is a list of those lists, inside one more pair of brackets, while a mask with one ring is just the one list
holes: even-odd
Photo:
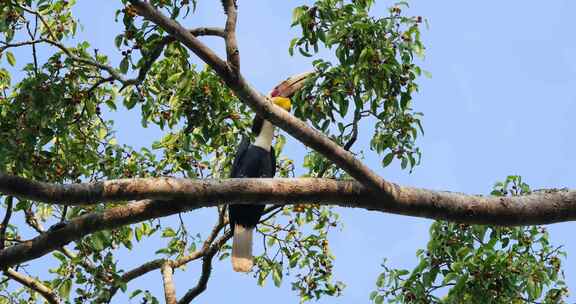
[[[52, 185], [0, 174], [0, 192], [47, 203], [111, 202], [150, 198], [72, 219], [60, 229], [0, 251], [0, 266], [38, 258], [90, 233], [200, 207], [229, 204], [319, 203], [469, 224], [530, 225], [576, 220], [576, 191], [519, 197], [483, 197], [394, 186], [393, 197], [355, 181], [332, 179], [124, 179]], [[76, 203], [74, 203], [76, 202]]]

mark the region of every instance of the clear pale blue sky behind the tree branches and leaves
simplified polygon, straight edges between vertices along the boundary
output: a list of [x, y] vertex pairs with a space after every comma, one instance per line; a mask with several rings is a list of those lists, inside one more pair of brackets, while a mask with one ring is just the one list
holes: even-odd
[[[216, 1], [199, 1], [196, 15], [186, 25], [221, 26], [224, 16]], [[267, 92], [288, 75], [309, 70], [309, 60], [289, 57], [288, 44], [293, 1], [238, 1], [238, 40], [242, 72], [259, 90]], [[305, 1], [311, 2], [311, 1]], [[377, 1], [374, 13], [391, 4]], [[416, 110], [424, 112], [425, 136], [421, 166], [409, 174], [398, 164], [381, 169], [377, 155], [367, 151], [365, 161], [384, 178], [403, 185], [486, 194], [493, 183], [510, 174], [522, 175], [533, 188], [576, 188], [576, 151], [573, 136], [576, 116], [576, 19], [574, 1], [411, 1], [410, 14], [422, 15], [430, 28], [423, 31], [427, 55], [423, 67], [433, 75], [420, 80]], [[107, 53], [114, 62], [120, 54], [113, 37], [121, 32], [114, 23], [119, 1], [80, 1], [76, 13], [84, 26], [80, 39]], [[205, 39], [222, 54], [218, 39]], [[21, 55], [25, 58], [25, 54]], [[2, 62], [5, 66], [5, 61]], [[120, 143], [148, 145], [161, 133], [141, 130], [140, 119], [124, 112], [108, 113], [116, 119]], [[367, 147], [369, 133], [361, 134]], [[284, 151], [301, 158], [304, 147], [296, 142]], [[347, 288], [341, 298], [320, 303], [368, 302], [380, 263], [393, 267], [415, 266], [415, 251], [428, 240], [430, 220], [338, 208], [342, 231], [331, 236], [336, 255], [336, 278]], [[186, 215], [188, 229], [208, 233], [213, 210]], [[168, 219], [170, 220], [170, 219]], [[554, 244], [564, 245], [564, 265], [570, 290], [576, 293], [576, 240], [574, 223], [550, 225]], [[121, 265], [131, 268], [153, 257], [154, 241], [137, 251], [123, 253]], [[40, 267], [40, 266], [36, 266]], [[38, 268], [40, 269], [40, 268]], [[198, 265], [176, 274], [179, 296], [192, 287]], [[285, 281], [281, 288], [256, 286], [250, 276], [231, 271], [228, 260], [215, 263], [208, 290], [198, 303], [295, 303], [297, 297]], [[129, 284], [161, 295], [159, 272]], [[118, 295], [114, 303], [126, 303]], [[244, 300], [246, 299], [246, 300]], [[254, 300], [256, 299], [256, 300]], [[572, 301], [576, 300], [573, 295]], [[137, 301], [133, 301], [137, 303]]]

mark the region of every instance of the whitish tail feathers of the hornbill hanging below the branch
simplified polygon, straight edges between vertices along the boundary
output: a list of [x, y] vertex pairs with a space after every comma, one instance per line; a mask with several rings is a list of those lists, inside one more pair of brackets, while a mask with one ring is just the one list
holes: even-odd
[[232, 239], [232, 268], [238, 272], [252, 270], [252, 230], [238, 224], [234, 225], [234, 238]]

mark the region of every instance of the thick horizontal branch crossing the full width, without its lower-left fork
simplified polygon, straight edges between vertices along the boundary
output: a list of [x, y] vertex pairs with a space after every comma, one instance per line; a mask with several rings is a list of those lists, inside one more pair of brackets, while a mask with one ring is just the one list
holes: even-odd
[[278, 205], [317, 202], [478, 224], [529, 225], [576, 219], [576, 191], [503, 198], [394, 187], [396, 195], [390, 197], [355, 181], [321, 178], [134, 178], [58, 185], [0, 173], [0, 192], [6, 195], [62, 205], [158, 200], [155, 205], [170, 206], [162, 209], [169, 209], [166, 215], [173, 214], [174, 204], [179, 206], [177, 210], [189, 210], [217, 206], [218, 202]]

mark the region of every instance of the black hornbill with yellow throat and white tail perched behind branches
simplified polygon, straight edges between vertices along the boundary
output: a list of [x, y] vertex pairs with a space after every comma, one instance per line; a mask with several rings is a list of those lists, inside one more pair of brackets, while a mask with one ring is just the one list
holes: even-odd
[[[290, 111], [290, 97], [302, 88], [311, 73], [288, 78], [276, 86], [267, 96], [268, 100], [286, 111]], [[272, 147], [274, 125], [256, 115], [252, 123], [254, 143], [242, 140], [232, 163], [231, 178], [274, 177], [276, 156]], [[230, 205], [228, 217], [234, 232], [232, 239], [232, 268], [234, 271], [249, 272], [252, 261], [252, 234], [264, 212], [264, 205]]]

